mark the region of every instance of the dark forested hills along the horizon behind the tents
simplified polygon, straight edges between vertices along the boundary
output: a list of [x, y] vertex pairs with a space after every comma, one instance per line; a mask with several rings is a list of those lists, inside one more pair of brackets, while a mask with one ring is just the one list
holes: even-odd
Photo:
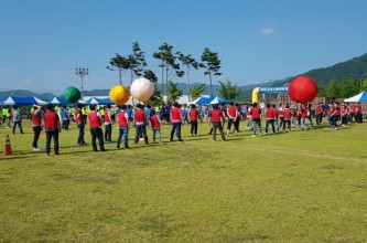
[[[328, 82], [332, 78], [336, 78], [337, 82], [342, 82], [345, 77], [349, 77], [352, 80], [366, 80], [367, 78], [367, 53], [354, 57], [352, 60], [337, 63], [333, 66], [328, 67], [321, 67], [316, 70], [311, 70], [309, 72], [305, 72], [303, 74], [299, 75], [306, 75], [312, 77], [319, 86], [325, 87]], [[299, 76], [296, 75], [296, 76]], [[287, 77], [279, 81], [272, 81], [261, 84], [250, 84], [250, 85], [244, 85], [239, 86], [242, 91], [242, 95], [238, 98], [239, 101], [248, 101], [251, 96], [251, 91], [255, 87], [263, 87], [263, 86], [284, 86], [288, 85], [289, 82], [293, 77]], [[215, 82], [216, 83], [216, 82]], [[207, 84], [207, 83], [205, 83]], [[191, 84], [191, 86], [195, 85], [195, 83]], [[165, 84], [163, 85], [165, 89]], [[217, 88], [219, 85], [217, 83], [213, 85], [214, 95], [217, 95]], [[129, 86], [128, 86], [129, 88]], [[158, 84], [158, 88], [162, 89], [162, 84]], [[187, 94], [187, 84], [186, 83], [179, 83], [179, 88], [184, 92], [184, 94]], [[109, 94], [109, 89], [93, 89], [93, 91], [84, 91], [85, 96], [107, 96]], [[209, 86], [207, 85], [206, 91], [204, 94], [209, 94]], [[30, 91], [23, 91], [23, 89], [17, 89], [17, 91], [9, 91], [9, 92], [0, 92], [0, 99], [8, 97], [9, 95], [19, 96], [19, 97], [25, 97], [25, 96], [36, 96], [41, 99], [48, 99], [53, 96], [53, 94], [50, 93], [42, 93], [37, 94]]]

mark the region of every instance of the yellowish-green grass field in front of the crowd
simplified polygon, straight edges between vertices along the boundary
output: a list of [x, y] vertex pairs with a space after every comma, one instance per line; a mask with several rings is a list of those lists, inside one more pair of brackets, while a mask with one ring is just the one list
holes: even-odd
[[169, 142], [165, 125], [162, 144], [130, 129], [131, 149], [107, 152], [72, 125], [48, 157], [23, 126], [0, 157], [0, 242], [367, 242], [367, 124], [252, 138], [241, 123], [225, 142], [206, 124]]

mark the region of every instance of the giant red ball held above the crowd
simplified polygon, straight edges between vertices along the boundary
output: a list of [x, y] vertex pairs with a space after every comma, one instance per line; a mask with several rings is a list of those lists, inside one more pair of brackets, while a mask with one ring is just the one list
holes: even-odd
[[317, 95], [317, 84], [310, 77], [298, 76], [290, 83], [288, 94], [296, 103], [312, 102]]

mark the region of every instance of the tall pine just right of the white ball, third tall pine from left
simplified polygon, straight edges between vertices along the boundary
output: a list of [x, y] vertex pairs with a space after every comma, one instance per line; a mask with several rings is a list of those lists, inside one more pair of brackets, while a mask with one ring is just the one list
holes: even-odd
[[173, 45], [168, 43], [163, 43], [161, 46], [158, 47], [159, 52], [153, 53], [153, 57], [161, 61], [159, 65], [162, 68], [162, 94], [164, 87], [164, 80], [165, 80], [165, 88], [168, 94], [168, 83], [174, 75], [182, 77], [184, 75], [183, 71], [180, 71], [180, 64], [175, 63], [176, 56], [173, 54]]

